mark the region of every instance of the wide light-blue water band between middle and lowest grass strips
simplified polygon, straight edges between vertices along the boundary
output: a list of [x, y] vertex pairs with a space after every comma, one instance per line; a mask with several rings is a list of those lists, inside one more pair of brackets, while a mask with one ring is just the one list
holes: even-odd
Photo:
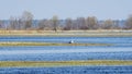
[[[4, 50], [7, 48], [7, 50]], [[21, 49], [20, 49], [21, 48]], [[52, 49], [54, 48], [54, 49]], [[69, 49], [70, 48], [70, 49]], [[119, 47], [4, 47], [1, 61], [132, 60], [132, 49]]]

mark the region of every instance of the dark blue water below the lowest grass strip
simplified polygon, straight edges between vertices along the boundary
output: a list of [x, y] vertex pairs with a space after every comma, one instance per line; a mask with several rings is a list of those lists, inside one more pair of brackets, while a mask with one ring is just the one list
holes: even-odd
[[132, 74], [132, 66], [1, 67], [0, 74]]

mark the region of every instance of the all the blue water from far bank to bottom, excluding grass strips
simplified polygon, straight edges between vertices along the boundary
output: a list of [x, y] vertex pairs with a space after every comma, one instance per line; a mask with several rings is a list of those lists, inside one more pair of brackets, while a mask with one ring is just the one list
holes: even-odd
[[[113, 46], [0, 47], [0, 61], [132, 60], [132, 37], [0, 37], [0, 41], [69, 40]], [[132, 74], [132, 66], [0, 67], [0, 74]]]

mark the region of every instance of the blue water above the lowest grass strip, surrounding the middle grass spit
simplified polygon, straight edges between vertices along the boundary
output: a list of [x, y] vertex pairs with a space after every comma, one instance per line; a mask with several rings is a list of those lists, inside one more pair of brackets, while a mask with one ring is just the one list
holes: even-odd
[[0, 47], [1, 61], [132, 60], [132, 37], [0, 37], [0, 41], [48, 41], [114, 44], [117, 46]]

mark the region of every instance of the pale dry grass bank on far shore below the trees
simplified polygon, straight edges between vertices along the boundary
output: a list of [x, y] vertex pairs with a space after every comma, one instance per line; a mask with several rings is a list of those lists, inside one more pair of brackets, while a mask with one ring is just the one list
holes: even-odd
[[46, 36], [46, 37], [132, 37], [131, 30], [0, 30], [0, 36]]

